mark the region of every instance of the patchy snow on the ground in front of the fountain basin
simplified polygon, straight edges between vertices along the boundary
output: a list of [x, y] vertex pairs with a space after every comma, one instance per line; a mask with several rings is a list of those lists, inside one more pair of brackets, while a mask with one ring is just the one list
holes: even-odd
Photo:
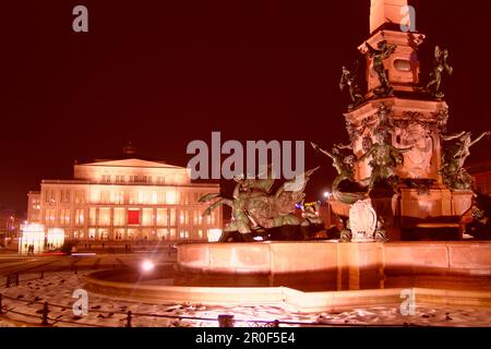
[[[236, 326], [252, 326], [249, 321], [275, 321], [295, 323], [321, 323], [325, 325], [415, 325], [415, 326], [491, 326], [491, 309], [465, 308], [465, 306], [417, 306], [415, 315], [404, 316], [399, 306], [371, 306], [355, 308], [346, 311], [331, 313], [299, 314], [285, 305], [248, 305], [248, 306], [207, 306], [200, 304], [148, 304], [143, 302], [130, 302], [110, 299], [100, 294], [88, 293], [88, 314], [75, 316], [72, 310], [76, 299], [72, 298], [73, 291], [83, 289], [87, 273], [72, 272], [45, 273], [44, 279], [38, 279], [39, 274], [23, 275], [17, 287], [0, 288], [4, 296], [19, 300], [49, 302], [63, 308], [50, 306], [50, 324], [53, 326], [93, 326], [121, 327], [127, 323], [125, 312], [159, 314], [170, 316], [189, 316], [212, 320], [178, 320], [153, 316], [132, 317], [132, 326], [170, 327], [170, 326], [212, 326], [218, 325], [216, 318], [219, 314], [232, 314]], [[19, 302], [3, 298], [3, 306], [9, 310], [7, 315], [0, 317], [0, 327], [12, 326], [9, 318], [39, 325], [40, 318], [26, 315], [40, 316], [38, 311], [40, 303]], [[13, 311], [13, 312], [10, 312]], [[109, 312], [109, 313], [107, 313]], [[69, 321], [63, 323], [60, 321]], [[19, 323], [16, 323], [19, 324]], [[298, 324], [280, 324], [280, 326], [298, 326]]]

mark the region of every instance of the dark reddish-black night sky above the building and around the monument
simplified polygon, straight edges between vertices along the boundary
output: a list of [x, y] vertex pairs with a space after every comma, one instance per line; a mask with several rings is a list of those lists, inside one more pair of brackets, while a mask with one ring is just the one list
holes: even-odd
[[[457, 4], [458, 3], [458, 4]], [[88, 33], [72, 9], [88, 8]], [[491, 129], [491, 2], [412, 1], [422, 81], [435, 45], [448, 48], [450, 131]], [[369, 37], [369, 0], [8, 1], [2, 4], [0, 207], [23, 214], [41, 179], [73, 161], [121, 153], [185, 166], [192, 140], [347, 142], [340, 68]], [[445, 76], [446, 77], [446, 76]], [[491, 141], [470, 161], [490, 159]], [[308, 186], [320, 197], [331, 161]]]

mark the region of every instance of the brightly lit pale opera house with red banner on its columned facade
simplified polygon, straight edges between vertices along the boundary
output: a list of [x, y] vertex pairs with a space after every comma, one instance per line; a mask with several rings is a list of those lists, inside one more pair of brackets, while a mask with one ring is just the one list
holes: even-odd
[[223, 214], [202, 217], [199, 198], [219, 184], [192, 183], [183, 167], [139, 157], [74, 165], [73, 180], [43, 180], [28, 193], [28, 225], [75, 240], [207, 240]]

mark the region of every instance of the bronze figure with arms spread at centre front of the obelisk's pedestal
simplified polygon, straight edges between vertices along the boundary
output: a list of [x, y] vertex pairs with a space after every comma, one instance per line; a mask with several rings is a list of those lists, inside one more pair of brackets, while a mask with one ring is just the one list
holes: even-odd
[[370, 149], [358, 159], [363, 161], [368, 158], [372, 158], [370, 167], [372, 168], [372, 174], [370, 177], [369, 188], [373, 189], [378, 183], [390, 184], [395, 186], [395, 168], [398, 165], [404, 164], [404, 154], [410, 152], [412, 147], [396, 148], [386, 142], [385, 133], [375, 134], [376, 142], [372, 144]]

